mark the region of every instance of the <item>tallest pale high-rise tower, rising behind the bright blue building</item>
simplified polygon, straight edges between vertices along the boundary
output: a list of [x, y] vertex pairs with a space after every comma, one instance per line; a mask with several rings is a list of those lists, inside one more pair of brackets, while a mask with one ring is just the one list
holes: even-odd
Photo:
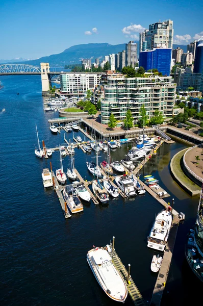
[[145, 33], [147, 42], [147, 49], [153, 49], [156, 44], [165, 44], [166, 48], [173, 46], [173, 21], [165, 20], [163, 22], [156, 22], [149, 24], [149, 30]]

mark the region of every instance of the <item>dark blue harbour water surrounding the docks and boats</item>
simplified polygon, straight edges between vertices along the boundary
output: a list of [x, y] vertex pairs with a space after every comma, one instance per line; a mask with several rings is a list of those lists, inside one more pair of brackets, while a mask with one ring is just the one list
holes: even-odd
[[[64, 133], [52, 135], [48, 119], [57, 113], [43, 112], [41, 79], [38, 75], [1, 77], [2, 124], [0, 147], [1, 177], [1, 305], [113, 305], [98, 286], [87, 262], [92, 245], [101, 246], [115, 236], [115, 248], [125, 266], [131, 263], [131, 275], [145, 300], [150, 300], [156, 275], [150, 272], [154, 251], [147, 248], [147, 236], [155, 214], [162, 207], [149, 194], [135, 199], [111, 200], [105, 207], [93, 202], [84, 212], [65, 219], [56, 193], [44, 190], [43, 168], [59, 167], [59, 153], [40, 160], [34, 155], [35, 124], [40, 141], [47, 147], [63, 144]], [[19, 95], [16, 93], [19, 92]], [[76, 132], [81, 135], [81, 132]], [[66, 134], [66, 138], [72, 138]], [[130, 146], [130, 145], [129, 145]], [[162, 305], [185, 304], [200, 297], [200, 284], [184, 257], [186, 235], [195, 222], [198, 197], [191, 198], [171, 178], [169, 161], [183, 143], [164, 144], [140, 174], [153, 173], [160, 185], [175, 199], [175, 209], [186, 214], [180, 226]], [[111, 152], [120, 160], [127, 145]], [[107, 157], [100, 152], [100, 161]], [[86, 161], [94, 153], [75, 149], [75, 167], [87, 180], [92, 179]], [[64, 158], [66, 169], [69, 158]], [[144, 172], [143, 172], [144, 171]], [[193, 293], [194, 292], [194, 293]], [[125, 305], [132, 305], [131, 299]]]

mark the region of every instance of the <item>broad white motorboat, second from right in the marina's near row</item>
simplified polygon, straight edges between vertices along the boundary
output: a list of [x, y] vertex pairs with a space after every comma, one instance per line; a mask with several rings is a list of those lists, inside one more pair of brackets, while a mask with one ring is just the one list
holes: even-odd
[[136, 196], [137, 192], [134, 186], [134, 181], [132, 180], [132, 177], [130, 177], [127, 174], [124, 174], [122, 176], [117, 176], [115, 178], [115, 182], [117, 186], [124, 192], [124, 194], [128, 197]]

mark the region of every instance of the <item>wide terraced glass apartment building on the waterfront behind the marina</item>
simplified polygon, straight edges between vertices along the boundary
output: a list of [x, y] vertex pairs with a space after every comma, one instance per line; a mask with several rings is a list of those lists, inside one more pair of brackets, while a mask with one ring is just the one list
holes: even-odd
[[152, 73], [146, 78], [125, 78], [123, 74], [114, 73], [107, 75], [101, 83], [104, 86], [104, 100], [101, 101], [103, 124], [108, 124], [110, 114], [114, 114], [118, 125], [121, 125], [128, 109], [137, 122], [142, 105], [149, 119], [156, 110], [161, 111], [166, 118], [172, 116], [176, 85], [172, 83], [171, 77], [159, 77]]

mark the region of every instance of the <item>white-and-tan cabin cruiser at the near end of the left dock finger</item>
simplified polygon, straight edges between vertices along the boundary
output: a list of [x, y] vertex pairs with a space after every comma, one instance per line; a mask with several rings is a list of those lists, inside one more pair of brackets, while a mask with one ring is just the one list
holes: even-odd
[[72, 185], [66, 186], [63, 190], [63, 197], [67, 203], [68, 209], [72, 214], [80, 213], [83, 211], [83, 205], [75, 193]]

